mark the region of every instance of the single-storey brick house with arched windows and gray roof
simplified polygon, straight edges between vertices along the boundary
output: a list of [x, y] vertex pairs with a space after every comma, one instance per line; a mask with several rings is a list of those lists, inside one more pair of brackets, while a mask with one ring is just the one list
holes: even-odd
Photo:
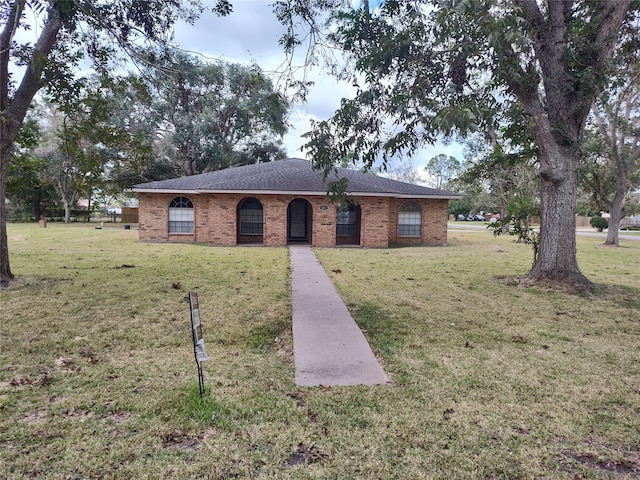
[[231, 246], [446, 245], [459, 195], [337, 168], [356, 205], [327, 197], [322, 173], [301, 159], [136, 185], [140, 240]]

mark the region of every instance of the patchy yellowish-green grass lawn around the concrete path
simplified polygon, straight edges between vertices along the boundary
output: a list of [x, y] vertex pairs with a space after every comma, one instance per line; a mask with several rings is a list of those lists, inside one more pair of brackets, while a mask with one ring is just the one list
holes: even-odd
[[286, 249], [9, 225], [0, 478], [637, 478], [640, 242], [578, 237], [586, 299], [513, 285], [510, 238], [449, 240], [316, 250], [392, 383], [303, 388]]

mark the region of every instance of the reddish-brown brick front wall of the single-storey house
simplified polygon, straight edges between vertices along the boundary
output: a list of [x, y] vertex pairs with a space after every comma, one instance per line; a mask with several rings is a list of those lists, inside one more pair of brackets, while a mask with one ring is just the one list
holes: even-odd
[[[140, 240], [147, 242], [206, 242], [210, 245], [238, 243], [238, 205], [242, 194], [186, 195], [194, 206], [193, 234], [169, 234], [169, 204], [175, 194], [140, 193]], [[263, 206], [264, 231], [254, 239], [267, 246], [287, 244], [287, 206], [295, 195], [255, 195]], [[304, 197], [309, 202], [309, 236], [319, 247], [336, 245], [336, 205], [325, 196]], [[405, 200], [360, 197], [360, 245], [446, 245], [447, 200], [420, 199], [422, 236], [398, 237], [398, 210]], [[243, 239], [247, 240], [247, 239]], [[250, 240], [250, 239], [249, 239]]]

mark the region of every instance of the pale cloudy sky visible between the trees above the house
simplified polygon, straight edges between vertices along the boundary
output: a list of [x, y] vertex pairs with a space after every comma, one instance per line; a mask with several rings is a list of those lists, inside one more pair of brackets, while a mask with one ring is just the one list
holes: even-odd
[[[213, 5], [214, 2], [204, 0], [204, 3]], [[204, 13], [194, 25], [179, 24], [174, 41], [180, 48], [207, 58], [256, 63], [266, 72], [275, 71], [285, 60], [278, 44], [284, 27], [276, 20], [270, 4], [270, 0], [235, 0], [234, 11], [228, 17]], [[304, 144], [301, 135], [311, 129], [310, 121], [330, 118], [343, 97], [355, 95], [355, 87], [350, 82], [339, 82], [319, 67], [308, 72], [308, 79], [314, 81], [314, 86], [306, 103], [295, 106], [289, 119], [289, 133], [284, 137], [284, 146], [290, 157], [307, 158], [300, 150]], [[439, 144], [420, 151], [413, 159], [414, 167], [422, 170], [439, 153], [462, 160], [460, 145]]]

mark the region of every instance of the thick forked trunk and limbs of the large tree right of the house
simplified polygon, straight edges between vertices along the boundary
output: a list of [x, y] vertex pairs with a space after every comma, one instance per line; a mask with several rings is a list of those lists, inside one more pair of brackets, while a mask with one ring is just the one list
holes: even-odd
[[[516, 0], [519, 14], [531, 28], [540, 77], [532, 64], [509, 76], [509, 87], [534, 122], [539, 148], [541, 225], [536, 262], [526, 278], [534, 283], [572, 286], [588, 292], [591, 282], [578, 268], [575, 212], [580, 144], [591, 103], [598, 94], [599, 76], [616, 45], [631, 0], [599, 2], [600, 14], [591, 19], [592, 37], [583, 63], [575, 65], [575, 49], [568, 43], [574, 5], [570, 1]], [[600, 3], [602, 5], [600, 5]], [[505, 70], [517, 66], [507, 57]], [[540, 96], [542, 79], [544, 97]]]

